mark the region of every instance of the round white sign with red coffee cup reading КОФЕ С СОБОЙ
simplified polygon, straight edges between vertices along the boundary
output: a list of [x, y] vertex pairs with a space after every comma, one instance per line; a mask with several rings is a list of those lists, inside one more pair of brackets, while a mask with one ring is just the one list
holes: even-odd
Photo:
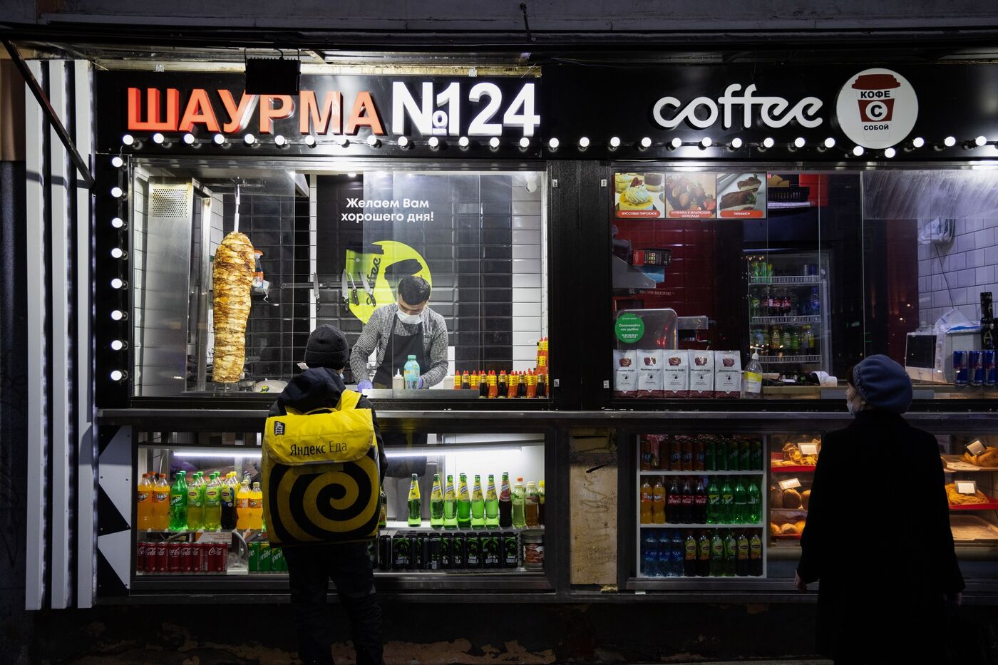
[[863, 148], [895, 146], [918, 119], [918, 96], [907, 79], [889, 69], [867, 69], [849, 78], [835, 104], [845, 136]]

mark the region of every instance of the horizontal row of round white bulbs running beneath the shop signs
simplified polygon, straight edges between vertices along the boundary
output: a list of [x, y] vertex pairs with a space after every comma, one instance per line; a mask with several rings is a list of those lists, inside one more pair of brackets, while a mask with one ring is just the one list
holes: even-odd
[[[182, 140], [184, 141], [185, 144], [189, 146], [193, 146], [197, 143], [214, 143], [217, 146], [224, 146], [229, 142], [229, 139], [227, 139], [226, 136], [223, 134], [216, 134], [211, 140], [199, 140], [195, 138], [193, 134], [185, 134]], [[154, 134], [152, 136], [152, 141], [153, 143], [159, 146], [170, 145], [170, 142], [167, 141], [166, 137], [160, 133]], [[260, 142], [259, 139], [257, 139], [254, 135], [246, 134], [243, 136], [243, 143], [248, 146], [254, 146], [258, 145]], [[273, 137], [273, 144], [278, 148], [284, 148], [290, 145], [290, 143], [291, 142], [289, 142], [285, 137], [283, 137], [280, 134]], [[305, 136], [304, 139], [302, 140], [302, 143], [305, 146], [308, 146], [309, 148], [314, 148], [317, 145], [315, 137], [311, 135]], [[336, 139], [336, 143], [340, 147], [346, 148], [347, 146], [350, 145], [350, 139], [345, 136], [340, 136], [338, 139]], [[374, 135], [370, 135], [367, 137], [365, 143], [371, 148], [377, 148], [381, 145], [381, 140]], [[988, 143], [998, 144], [998, 142], [994, 141], [989, 142], [986, 137], [979, 136], [973, 141], [964, 141], [962, 145], [964, 148], [983, 148]], [[136, 146], [136, 147], [140, 146], [140, 144], [136, 141], [135, 137], [132, 136], [131, 134], [126, 134], [125, 136], [122, 137], [122, 144], [125, 146]], [[653, 144], [654, 142], [652, 141], [651, 137], [646, 136], [642, 138], [641, 141], [637, 142], [636, 147], [638, 147], [641, 150], [647, 150], [651, 148]], [[916, 137], [912, 139], [910, 142], [908, 142], [908, 144], [904, 146], [904, 149], [912, 150], [916, 148], [923, 148], [925, 144], [926, 144], [925, 139], [921, 137]], [[957, 144], [956, 137], [953, 136], [947, 136], [942, 141], [942, 145], [945, 146], [946, 148], [952, 148], [956, 144]], [[398, 138], [396, 145], [399, 148], [406, 149], [415, 145], [415, 143], [408, 137], [402, 136]], [[426, 145], [433, 150], [438, 150], [444, 144], [438, 137], [431, 136], [429, 139], [426, 140]], [[457, 145], [462, 150], [467, 149], [471, 145], [471, 140], [466, 136], [462, 136], [457, 140]], [[499, 137], [494, 136], [491, 139], [489, 139], [488, 145], [489, 148], [491, 148], [492, 150], [496, 150], [501, 145], [501, 141], [499, 140]], [[523, 137], [518, 142], [518, 145], [521, 150], [526, 150], [530, 147], [530, 139], [527, 137]], [[578, 149], [580, 151], [584, 151], [587, 148], [589, 148], [591, 145], [592, 142], [590, 141], [589, 137], [584, 136], [579, 139]], [[623, 141], [621, 140], [620, 137], [617, 136], [611, 137], [610, 141], [607, 142], [607, 146], [610, 148], [610, 150], [617, 150], [622, 145]], [[677, 150], [679, 148], [682, 148], [683, 146], [696, 146], [701, 149], [707, 150], [712, 146], [715, 145], [721, 146], [722, 144], [715, 143], [715, 141], [710, 137], [705, 137], [701, 139], [699, 142], [685, 142], [679, 137], [677, 137], [668, 143], [660, 143], [658, 145], [665, 146], [670, 150]], [[734, 139], [729, 140], [728, 143], [724, 145], [730, 150], [739, 150], [740, 148], [743, 148], [746, 144], [742, 139], [735, 137]], [[768, 150], [776, 145], [776, 141], [771, 137], [766, 137], [762, 139], [762, 141], [759, 143], [749, 144], [749, 145], [754, 146], [757, 149]], [[807, 145], [806, 139], [804, 139], [803, 137], [797, 137], [796, 139], [793, 140], [792, 143], [787, 144], [787, 148], [790, 150], [800, 150], [804, 148], [806, 145]], [[555, 151], [558, 150], [560, 146], [561, 142], [558, 139], [556, 138], [548, 139], [548, 149]], [[824, 151], [824, 150], [830, 150], [834, 147], [835, 147], [835, 139], [833, 139], [832, 137], [828, 137], [817, 146], [817, 149], [819, 151]], [[938, 148], [938, 146], [936, 147]], [[854, 157], [861, 157], [865, 152], [866, 151], [862, 148], [862, 146], [854, 146], [851, 150], [851, 153]], [[897, 151], [894, 148], [887, 148], [886, 150], [883, 151], [883, 156], [888, 159], [894, 157], [896, 154]]]

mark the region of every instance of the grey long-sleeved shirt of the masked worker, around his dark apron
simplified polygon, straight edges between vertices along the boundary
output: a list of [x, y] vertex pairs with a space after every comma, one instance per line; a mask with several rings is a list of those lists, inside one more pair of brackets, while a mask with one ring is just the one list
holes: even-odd
[[[400, 336], [410, 336], [416, 333], [418, 326], [403, 324], [396, 313], [398, 304], [392, 303], [378, 308], [357, 337], [350, 350], [350, 370], [353, 378], [361, 381], [367, 377], [367, 358], [371, 351], [377, 349], [377, 363], [381, 366], [384, 354], [388, 348], [388, 340], [394, 332]], [[443, 317], [426, 307], [422, 312], [423, 320], [423, 353], [429, 358], [430, 366], [420, 367], [423, 387], [436, 385], [447, 375], [447, 324]]]

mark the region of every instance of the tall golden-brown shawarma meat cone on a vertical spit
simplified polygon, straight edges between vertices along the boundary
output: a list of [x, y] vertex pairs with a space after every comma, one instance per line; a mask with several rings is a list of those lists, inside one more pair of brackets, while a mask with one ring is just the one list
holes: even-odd
[[243, 373], [254, 270], [250, 239], [238, 232], [226, 236], [215, 253], [212, 273], [217, 383], [238, 381]]

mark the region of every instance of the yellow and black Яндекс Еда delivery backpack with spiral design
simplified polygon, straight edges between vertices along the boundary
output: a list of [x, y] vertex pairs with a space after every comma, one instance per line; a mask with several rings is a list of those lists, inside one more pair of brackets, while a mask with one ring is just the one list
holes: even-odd
[[359, 400], [359, 393], [344, 390], [334, 409], [287, 409], [287, 415], [266, 419], [260, 467], [270, 543], [377, 536], [377, 440], [371, 410], [356, 408]]

